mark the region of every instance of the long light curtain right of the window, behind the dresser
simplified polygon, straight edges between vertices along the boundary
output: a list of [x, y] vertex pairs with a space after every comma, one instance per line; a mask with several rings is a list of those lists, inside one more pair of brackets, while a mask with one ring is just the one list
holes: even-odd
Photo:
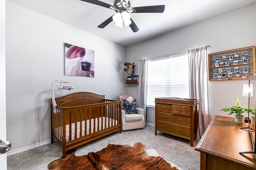
[[196, 141], [199, 141], [209, 125], [207, 47], [191, 49], [189, 53], [190, 98], [198, 99], [198, 125]]

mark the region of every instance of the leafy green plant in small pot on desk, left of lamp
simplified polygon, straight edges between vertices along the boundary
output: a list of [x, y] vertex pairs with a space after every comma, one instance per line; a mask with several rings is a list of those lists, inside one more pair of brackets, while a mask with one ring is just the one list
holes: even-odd
[[229, 111], [230, 113], [228, 115], [235, 114], [235, 122], [236, 123], [244, 123], [245, 116], [242, 115], [242, 113], [246, 112], [246, 108], [241, 106], [240, 101], [236, 100], [236, 104], [234, 104], [231, 107], [225, 107], [223, 109], [220, 109], [222, 111]]

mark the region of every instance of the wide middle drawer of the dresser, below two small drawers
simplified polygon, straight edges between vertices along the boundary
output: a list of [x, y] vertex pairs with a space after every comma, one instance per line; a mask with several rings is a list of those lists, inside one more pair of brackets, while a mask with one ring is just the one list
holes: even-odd
[[157, 112], [157, 120], [166, 121], [190, 127], [190, 117], [174, 115], [171, 113]]

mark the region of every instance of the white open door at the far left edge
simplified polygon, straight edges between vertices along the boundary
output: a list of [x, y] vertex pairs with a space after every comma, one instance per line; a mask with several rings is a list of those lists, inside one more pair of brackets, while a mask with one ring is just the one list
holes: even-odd
[[[0, 0], [0, 139], [6, 141], [6, 84], [5, 84], [5, 0]], [[0, 154], [0, 165], [7, 169], [6, 154]]]

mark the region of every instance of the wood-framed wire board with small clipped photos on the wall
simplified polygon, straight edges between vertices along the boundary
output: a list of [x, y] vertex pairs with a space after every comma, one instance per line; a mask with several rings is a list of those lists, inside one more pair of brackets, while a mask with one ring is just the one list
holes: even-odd
[[209, 80], [246, 79], [256, 72], [255, 46], [208, 54]]

